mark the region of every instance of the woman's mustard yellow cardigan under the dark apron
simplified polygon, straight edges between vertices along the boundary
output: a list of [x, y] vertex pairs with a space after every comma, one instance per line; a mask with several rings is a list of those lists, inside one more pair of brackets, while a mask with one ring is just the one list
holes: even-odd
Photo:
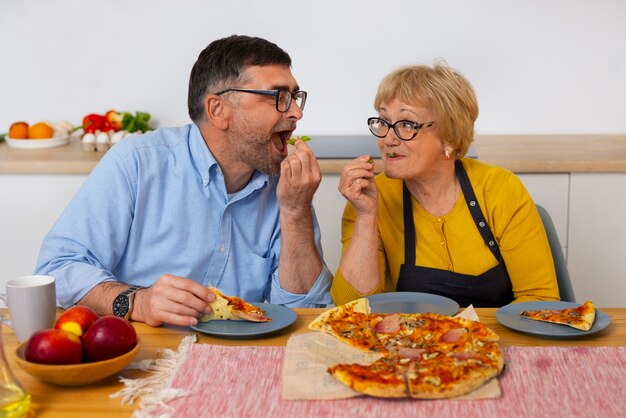
[[[559, 300], [559, 291], [541, 218], [517, 176], [510, 171], [464, 158], [478, 203], [500, 247], [515, 302]], [[378, 264], [380, 281], [372, 292], [394, 292], [404, 263], [402, 180], [376, 176], [378, 187]], [[497, 264], [485, 245], [462, 193], [445, 216], [432, 216], [415, 199], [416, 265], [478, 275]], [[342, 218], [342, 245], [350, 244], [356, 212], [347, 203]], [[360, 298], [337, 269], [331, 294], [336, 305]]]

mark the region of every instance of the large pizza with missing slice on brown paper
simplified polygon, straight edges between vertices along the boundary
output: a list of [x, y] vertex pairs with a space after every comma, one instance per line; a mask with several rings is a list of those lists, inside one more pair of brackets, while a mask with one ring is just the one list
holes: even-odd
[[327, 370], [365, 395], [451, 398], [475, 390], [504, 368], [497, 334], [463, 318], [370, 313], [362, 298], [322, 313], [309, 328], [382, 354], [371, 364], [335, 364]]

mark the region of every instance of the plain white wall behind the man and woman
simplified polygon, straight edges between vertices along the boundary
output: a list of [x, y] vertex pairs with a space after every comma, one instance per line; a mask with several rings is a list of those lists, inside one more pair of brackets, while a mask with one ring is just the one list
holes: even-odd
[[0, 132], [109, 108], [187, 123], [191, 66], [233, 33], [291, 54], [301, 133], [367, 133], [380, 79], [437, 57], [474, 84], [479, 133], [626, 132], [624, 0], [1, 0]]

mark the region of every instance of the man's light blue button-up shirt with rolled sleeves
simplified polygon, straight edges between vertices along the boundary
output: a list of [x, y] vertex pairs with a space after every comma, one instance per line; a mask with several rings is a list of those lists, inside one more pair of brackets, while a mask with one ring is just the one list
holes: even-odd
[[98, 283], [150, 286], [163, 274], [251, 302], [324, 306], [331, 303], [326, 265], [307, 294], [280, 286], [278, 179], [255, 172], [229, 196], [196, 125], [128, 137], [106, 153], [44, 238], [35, 272], [56, 279], [64, 308]]

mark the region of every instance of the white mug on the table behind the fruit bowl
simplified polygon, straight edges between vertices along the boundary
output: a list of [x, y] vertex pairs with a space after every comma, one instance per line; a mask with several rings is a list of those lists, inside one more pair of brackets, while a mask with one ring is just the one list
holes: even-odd
[[9, 280], [6, 294], [0, 299], [9, 308], [11, 320], [3, 322], [13, 328], [21, 343], [33, 333], [54, 328], [56, 321], [56, 288], [52, 276], [21, 276]]

